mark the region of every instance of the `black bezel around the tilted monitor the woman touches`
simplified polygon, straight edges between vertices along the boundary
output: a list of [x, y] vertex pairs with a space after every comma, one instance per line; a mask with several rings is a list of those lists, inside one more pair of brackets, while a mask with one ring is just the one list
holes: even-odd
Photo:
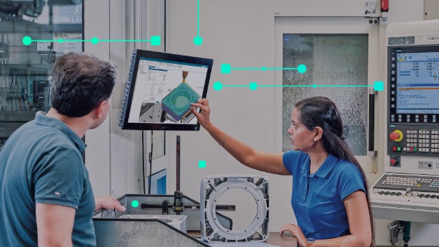
[[[200, 123], [196, 124], [170, 124], [170, 123], [153, 123], [153, 122], [144, 122], [144, 123], [130, 123], [128, 119], [130, 117], [130, 110], [132, 104], [132, 97], [134, 95], [134, 88], [137, 79], [137, 71], [139, 69], [139, 60], [140, 58], [152, 58], [157, 60], [167, 60], [169, 62], [185, 62], [189, 64], [200, 64], [207, 66], [206, 72], [206, 80], [204, 81], [204, 88], [201, 97], [206, 98], [207, 90], [209, 89], [209, 81], [211, 78], [211, 72], [213, 67], [213, 60], [210, 58], [200, 58], [195, 56], [186, 56], [180, 54], [170, 54], [166, 52], [160, 51], [148, 51], [143, 49], [136, 49], [135, 58], [131, 60], [130, 66], [132, 67], [132, 71], [130, 71], [130, 75], [128, 78], [128, 82], [130, 84], [130, 90], [127, 95], [124, 96], [124, 100], [126, 100], [126, 108], [125, 113], [123, 115], [123, 121], [121, 122], [122, 130], [200, 130]], [[123, 109], [122, 109], [123, 111]]]

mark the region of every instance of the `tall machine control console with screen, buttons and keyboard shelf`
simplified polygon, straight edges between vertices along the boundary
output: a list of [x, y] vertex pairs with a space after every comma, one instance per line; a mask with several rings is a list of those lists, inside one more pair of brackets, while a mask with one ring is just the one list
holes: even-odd
[[439, 222], [438, 27], [435, 20], [386, 29], [387, 155], [384, 174], [369, 189], [377, 218]]

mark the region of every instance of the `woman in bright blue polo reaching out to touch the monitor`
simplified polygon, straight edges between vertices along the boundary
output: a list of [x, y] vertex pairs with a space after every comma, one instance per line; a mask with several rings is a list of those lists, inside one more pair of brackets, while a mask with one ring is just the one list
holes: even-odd
[[343, 125], [327, 97], [294, 106], [288, 129], [294, 150], [257, 152], [214, 126], [207, 99], [192, 104], [200, 124], [240, 163], [272, 174], [292, 175], [292, 207], [298, 226], [286, 224], [299, 246], [375, 246], [366, 177], [344, 142]]

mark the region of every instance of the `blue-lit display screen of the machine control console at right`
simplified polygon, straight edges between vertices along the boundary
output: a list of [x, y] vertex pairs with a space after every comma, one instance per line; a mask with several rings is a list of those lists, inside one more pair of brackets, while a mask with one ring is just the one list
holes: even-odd
[[391, 47], [390, 108], [397, 119], [439, 114], [439, 46]]

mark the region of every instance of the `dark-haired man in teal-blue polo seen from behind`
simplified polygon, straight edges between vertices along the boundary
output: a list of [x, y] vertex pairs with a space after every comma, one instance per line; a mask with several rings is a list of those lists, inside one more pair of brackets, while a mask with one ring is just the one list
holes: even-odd
[[82, 53], [54, 64], [51, 106], [16, 130], [0, 153], [0, 246], [95, 246], [95, 201], [82, 137], [106, 119], [116, 82], [108, 61]]

